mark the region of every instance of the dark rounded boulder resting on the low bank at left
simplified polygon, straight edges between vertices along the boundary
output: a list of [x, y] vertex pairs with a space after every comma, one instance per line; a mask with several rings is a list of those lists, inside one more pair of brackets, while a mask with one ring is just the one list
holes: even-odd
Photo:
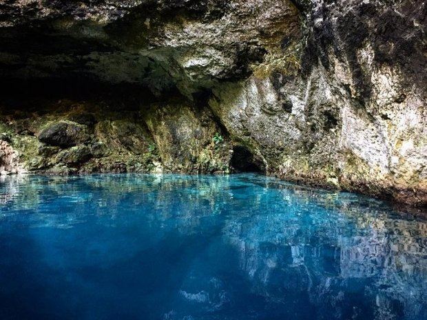
[[50, 146], [67, 148], [90, 139], [85, 126], [71, 121], [50, 123], [39, 133], [39, 140]]

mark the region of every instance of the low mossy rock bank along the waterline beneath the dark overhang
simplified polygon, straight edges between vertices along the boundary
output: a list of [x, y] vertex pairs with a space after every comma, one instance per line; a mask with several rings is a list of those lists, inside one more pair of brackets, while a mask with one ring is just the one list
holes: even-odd
[[1, 172], [229, 172], [231, 147], [213, 140], [220, 128], [209, 110], [180, 101], [146, 110], [98, 100], [44, 103], [36, 112], [1, 113], [10, 137], [0, 136]]

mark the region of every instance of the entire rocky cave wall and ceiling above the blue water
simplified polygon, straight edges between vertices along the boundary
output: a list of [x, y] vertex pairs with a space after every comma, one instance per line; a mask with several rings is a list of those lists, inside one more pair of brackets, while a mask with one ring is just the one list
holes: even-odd
[[426, 206], [426, 6], [4, 1], [3, 171], [257, 170]]

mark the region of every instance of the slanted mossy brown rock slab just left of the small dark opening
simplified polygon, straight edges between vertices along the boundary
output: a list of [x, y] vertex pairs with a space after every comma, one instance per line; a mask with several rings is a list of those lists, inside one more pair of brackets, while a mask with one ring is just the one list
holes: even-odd
[[[209, 110], [189, 104], [154, 106], [144, 115], [156, 152], [171, 172], [229, 172], [229, 141]], [[153, 159], [155, 161], [155, 159]]]

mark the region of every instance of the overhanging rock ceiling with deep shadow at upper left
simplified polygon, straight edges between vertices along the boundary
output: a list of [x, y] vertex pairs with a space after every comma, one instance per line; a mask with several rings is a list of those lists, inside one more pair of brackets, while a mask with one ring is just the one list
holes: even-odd
[[[0, 54], [10, 66], [6, 77], [90, 73], [109, 83], [143, 83], [155, 94], [178, 88], [191, 97], [245, 77], [267, 49], [300, 37], [298, 10], [287, 0], [17, 1], [2, 9], [0, 27], [8, 28], [0, 28], [0, 39], [12, 49]], [[13, 50], [22, 41], [28, 50]]]

